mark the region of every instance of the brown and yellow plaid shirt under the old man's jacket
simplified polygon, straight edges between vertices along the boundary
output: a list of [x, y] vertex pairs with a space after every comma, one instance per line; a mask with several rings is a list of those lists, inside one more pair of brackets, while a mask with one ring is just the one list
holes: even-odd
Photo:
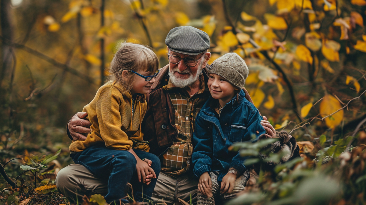
[[193, 96], [190, 96], [184, 88], [173, 85], [170, 79], [163, 89], [168, 91], [175, 108], [175, 126], [178, 136], [167, 152], [161, 155], [161, 162], [163, 162], [161, 169], [177, 177], [190, 169], [194, 120], [208, 99], [209, 90], [205, 86], [203, 75], [200, 76], [200, 89]]

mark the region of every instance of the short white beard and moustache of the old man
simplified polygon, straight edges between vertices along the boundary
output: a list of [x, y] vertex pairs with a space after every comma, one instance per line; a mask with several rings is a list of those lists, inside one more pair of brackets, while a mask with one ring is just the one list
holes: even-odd
[[[188, 79], [182, 79], [182, 78], [174, 75], [174, 72], [189, 73], [190, 76], [188, 77]], [[178, 65], [175, 68], [171, 68], [169, 65], [170, 80], [176, 87], [184, 88], [184, 87], [191, 86], [195, 81], [197, 81], [197, 79], [198, 79], [199, 75], [201, 75], [201, 73], [202, 73], [202, 66], [199, 66], [199, 68], [197, 69], [196, 75], [193, 75], [190, 69], [185, 69], [184, 71], [179, 71]]]

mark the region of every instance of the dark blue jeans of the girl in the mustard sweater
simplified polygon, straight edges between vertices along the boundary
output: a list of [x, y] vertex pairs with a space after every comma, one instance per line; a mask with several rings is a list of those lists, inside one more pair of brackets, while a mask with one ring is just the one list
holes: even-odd
[[[151, 160], [151, 168], [156, 176], [159, 175], [160, 159], [156, 155], [137, 149], [134, 149], [134, 152], [140, 159]], [[76, 164], [85, 166], [97, 177], [108, 178], [108, 194], [104, 197], [108, 203], [116, 201], [116, 204], [119, 204], [121, 199], [124, 203], [128, 202], [123, 199], [126, 197], [127, 183], [131, 183], [136, 201], [151, 200], [157, 178], [152, 179], [149, 185], [139, 182], [136, 172], [137, 161], [130, 152], [109, 149], [105, 145], [94, 145], [70, 156]]]

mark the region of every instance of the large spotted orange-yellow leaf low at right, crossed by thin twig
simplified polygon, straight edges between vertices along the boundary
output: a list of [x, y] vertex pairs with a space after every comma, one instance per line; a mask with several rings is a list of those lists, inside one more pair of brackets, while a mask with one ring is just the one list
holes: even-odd
[[[326, 94], [320, 103], [320, 114], [322, 117], [330, 115], [335, 111], [339, 110], [341, 105], [339, 101], [333, 97], [332, 95]], [[336, 114], [332, 115], [332, 118], [329, 117], [325, 118], [325, 124], [328, 128], [335, 128], [339, 125], [343, 120], [343, 110], [340, 110]]]

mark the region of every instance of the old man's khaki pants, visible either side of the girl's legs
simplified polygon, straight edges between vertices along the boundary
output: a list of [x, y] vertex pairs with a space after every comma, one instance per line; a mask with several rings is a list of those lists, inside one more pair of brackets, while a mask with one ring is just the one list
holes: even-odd
[[[97, 178], [80, 164], [70, 164], [61, 169], [56, 177], [56, 185], [68, 200], [80, 204], [84, 195], [108, 193], [108, 181]], [[174, 205], [179, 201], [178, 198], [190, 203], [192, 197], [192, 204], [196, 204], [197, 185], [198, 180], [190, 179], [187, 175], [175, 178], [160, 172], [152, 198], [157, 204], [165, 202]]]

